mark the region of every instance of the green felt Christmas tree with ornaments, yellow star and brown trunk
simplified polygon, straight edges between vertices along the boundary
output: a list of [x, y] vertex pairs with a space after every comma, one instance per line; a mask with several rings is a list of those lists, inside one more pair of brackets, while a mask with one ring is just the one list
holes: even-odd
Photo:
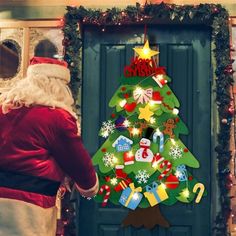
[[95, 200], [130, 209], [124, 225], [168, 227], [159, 204], [199, 203], [205, 189], [189, 170], [199, 162], [179, 138], [188, 129], [171, 79], [153, 59], [158, 52], [148, 41], [134, 50], [139, 56], [125, 66], [109, 103], [114, 111], [100, 130], [106, 141], [93, 157], [100, 184]]

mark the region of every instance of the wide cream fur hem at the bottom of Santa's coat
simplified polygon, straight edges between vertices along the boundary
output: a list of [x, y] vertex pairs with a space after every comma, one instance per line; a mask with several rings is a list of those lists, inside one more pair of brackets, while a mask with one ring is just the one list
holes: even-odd
[[56, 207], [0, 198], [0, 236], [55, 236]]

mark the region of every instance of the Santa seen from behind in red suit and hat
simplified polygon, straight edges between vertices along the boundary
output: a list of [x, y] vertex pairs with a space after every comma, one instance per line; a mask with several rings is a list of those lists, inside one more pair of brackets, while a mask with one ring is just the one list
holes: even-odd
[[66, 62], [35, 57], [26, 78], [0, 95], [0, 235], [55, 236], [66, 175], [82, 195], [98, 191], [69, 81]]

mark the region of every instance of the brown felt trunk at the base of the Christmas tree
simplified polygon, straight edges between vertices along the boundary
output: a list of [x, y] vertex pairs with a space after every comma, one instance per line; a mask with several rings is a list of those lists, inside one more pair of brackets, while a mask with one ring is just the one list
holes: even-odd
[[158, 205], [149, 208], [137, 208], [134, 211], [129, 211], [128, 215], [122, 222], [122, 226], [134, 226], [135, 228], [144, 227], [152, 229], [156, 225], [169, 228], [169, 222], [161, 214]]

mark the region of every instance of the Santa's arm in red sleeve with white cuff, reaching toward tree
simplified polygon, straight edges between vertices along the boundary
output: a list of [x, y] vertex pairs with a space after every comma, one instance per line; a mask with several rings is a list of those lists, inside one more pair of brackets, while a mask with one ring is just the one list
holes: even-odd
[[98, 191], [98, 177], [91, 157], [78, 136], [76, 121], [66, 114], [60, 119], [53, 147], [53, 157], [61, 169], [75, 181], [78, 191], [93, 197]]

